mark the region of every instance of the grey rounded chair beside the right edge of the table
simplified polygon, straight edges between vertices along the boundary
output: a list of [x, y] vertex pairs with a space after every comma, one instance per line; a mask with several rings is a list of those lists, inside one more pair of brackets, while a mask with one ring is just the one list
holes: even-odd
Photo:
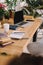
[[40, 39], [38, 42], [32, 42], [27, 45], [25, 48], [26, 51], [24, 53], [36, 55], [36, 56], [43, 56], [43, 38]]

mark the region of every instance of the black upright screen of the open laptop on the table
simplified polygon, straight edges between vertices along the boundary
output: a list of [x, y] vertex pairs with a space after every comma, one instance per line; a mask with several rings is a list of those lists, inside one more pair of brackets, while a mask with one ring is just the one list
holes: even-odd
[[14, 14], [14, 24], [17, 24], [17, 23], [19, 23], [23, 20], [24, 20], [23, 10], [15, 12], [15, 14]]

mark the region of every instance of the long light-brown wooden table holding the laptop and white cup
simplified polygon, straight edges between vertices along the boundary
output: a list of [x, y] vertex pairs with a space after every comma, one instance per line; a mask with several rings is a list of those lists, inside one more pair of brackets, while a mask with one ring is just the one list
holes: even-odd
[[[26, 26], [24, 28], [18, 27], [17, 31], [25, 32], [24, 39], [11, 40], [11, 41], [14, 41], [13, 44], [0, 48], [0, 65], [7, 65], [10, 59], [21, 55], [21, 53], [23, 52], [23, 49], [30, 43], [33, 35], [35, 34], [36, 30], [39, 28], [40, 25], [41, 25], [41, 20], [35, 19], [33, 24], [30, 26]], [[1, 55], [1, 53], [3, 52], [7, 53], [7, 55], [5, 56]]]

